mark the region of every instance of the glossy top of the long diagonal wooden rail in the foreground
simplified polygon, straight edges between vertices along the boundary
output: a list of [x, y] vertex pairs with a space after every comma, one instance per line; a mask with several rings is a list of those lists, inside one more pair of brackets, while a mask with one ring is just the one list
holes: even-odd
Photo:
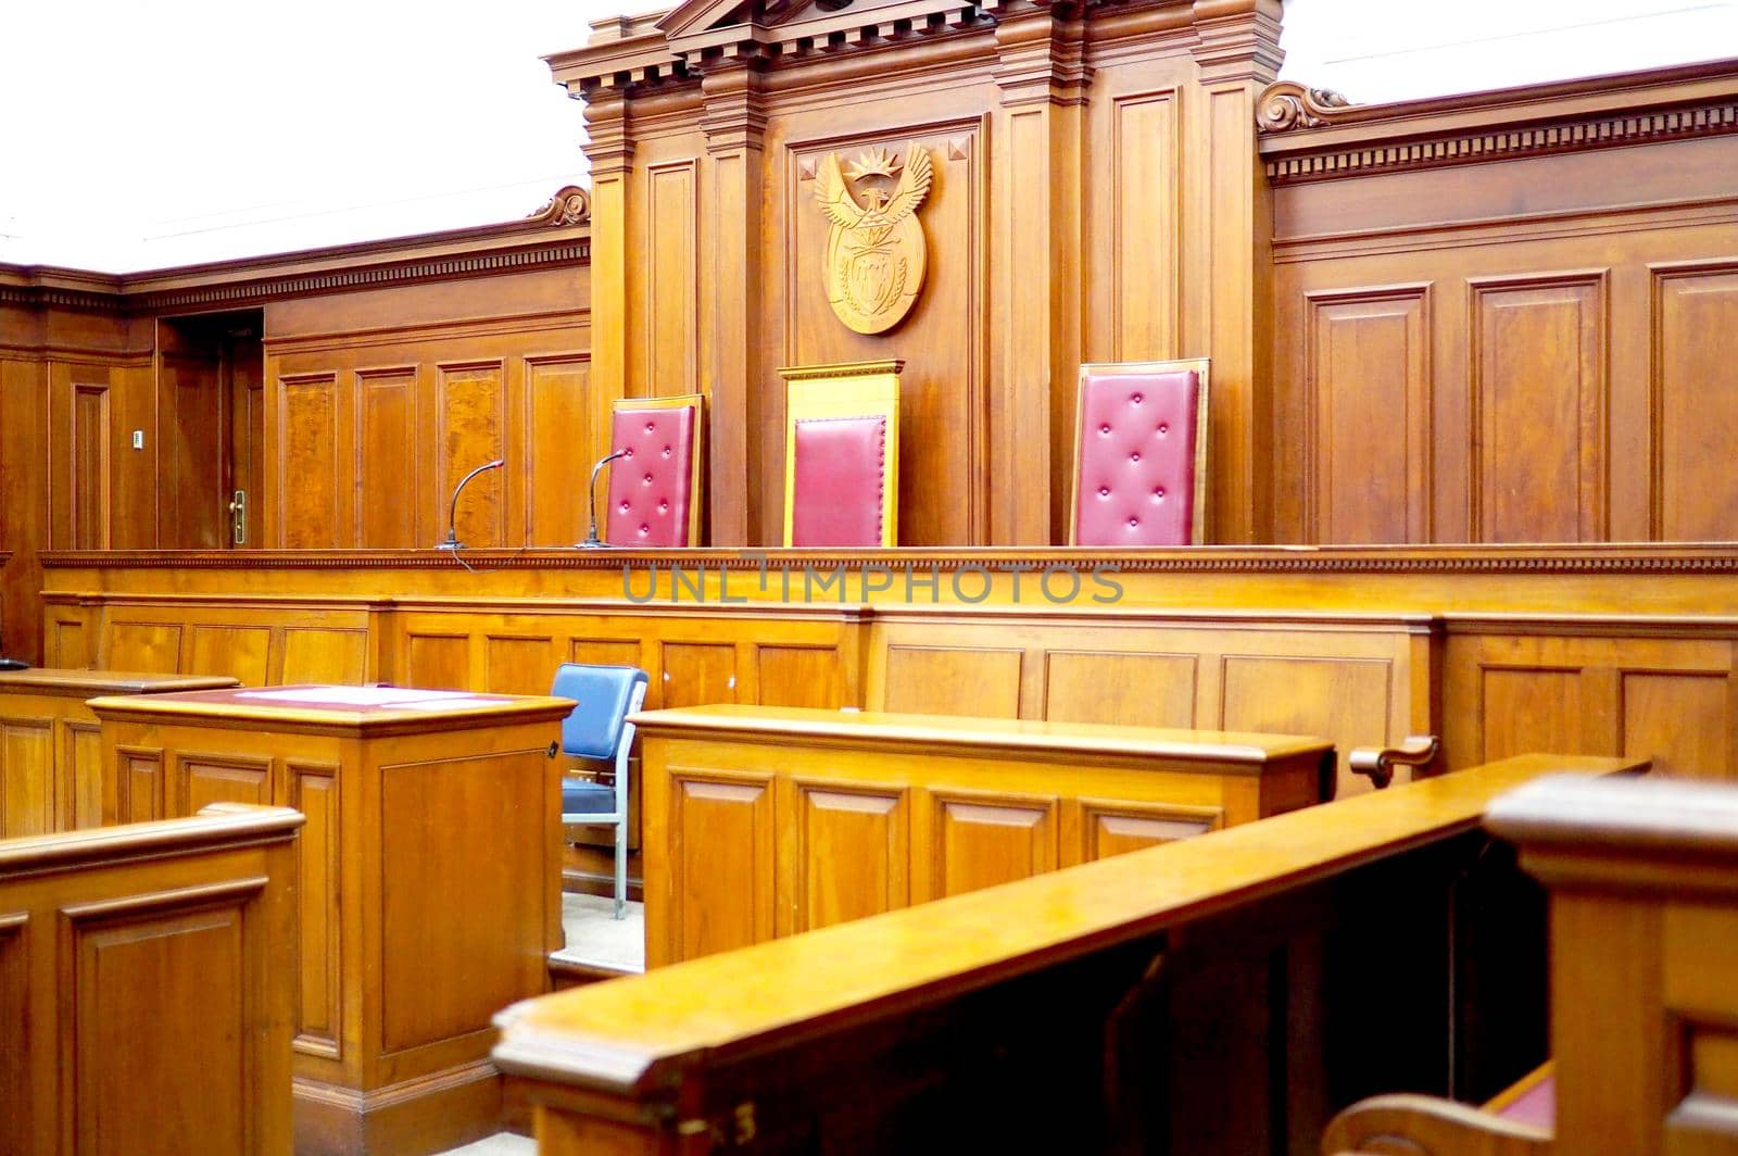
[[[516, 1076], [617, 1095], [648, 1092], [676, 1081], [683, 1057], [706, 1053], [718, 1062], [780, 1031], [819, 1034], [885, 1019], [942, 987], [975, 991], [1470, 831], [1496, 796], [1542, 775], [1648, 767], [1648, 760], [1522, 754], [1345, 800], [1331, 815], [1290, 812], [521, 1001], [495, 1019], [502, 1036], [494, 1059]], [[1008, 888], [1020, 888], [1022, 911], [1065, 914], [1006, 920]], [[716, 1007], [720, 991], [735, 993], [728, 1008]]]

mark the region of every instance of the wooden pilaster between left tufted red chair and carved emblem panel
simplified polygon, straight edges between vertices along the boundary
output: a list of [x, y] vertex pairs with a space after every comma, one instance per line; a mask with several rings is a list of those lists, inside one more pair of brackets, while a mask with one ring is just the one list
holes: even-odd
[[[761, 395], [751, 382], [768, 379], [756, 356], [761, 320], [761, 106], [756, 61], [713, 64], [700, 83], [706, 94], [706, 153], [713, 195], [702, 224], [711, 259], [700, 261], [700, 389], [707, 395], [707, 485], [713, 546], [777, 541], [777, 525], [751, 502], [761, 476], [758, 435]], [[596, 261], [596, 259], [593, 259]], [[596, 268], [596, 264], [593, 266]], [[754, 508], [754, 525], [749, 508]], [[775, 522], [775, 520], [773, 520]]]

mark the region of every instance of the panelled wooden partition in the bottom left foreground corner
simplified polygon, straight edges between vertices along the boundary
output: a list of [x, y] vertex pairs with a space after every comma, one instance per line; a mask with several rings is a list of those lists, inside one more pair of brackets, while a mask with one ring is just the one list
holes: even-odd
[[302, 817], [0, 841], [0, 1151], [290, 1151]]

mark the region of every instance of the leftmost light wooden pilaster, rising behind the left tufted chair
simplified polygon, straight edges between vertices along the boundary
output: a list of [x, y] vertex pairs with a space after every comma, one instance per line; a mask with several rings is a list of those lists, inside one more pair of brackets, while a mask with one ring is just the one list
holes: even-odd
[[586, 94], [591, 162], [591, 447], [608, 454], [610, 405], [627, 395], [627, 179], [634, 144], [627, 101], [617, 90]]

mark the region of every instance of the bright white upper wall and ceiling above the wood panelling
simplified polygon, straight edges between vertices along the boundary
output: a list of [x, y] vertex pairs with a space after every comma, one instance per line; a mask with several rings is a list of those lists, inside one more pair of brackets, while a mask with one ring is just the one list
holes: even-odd
[[[539, 57], [620, 7], [10, 0], [0, 261], [125, 273], [525, 216], [584, 174]], [[1738, 0], [1286, 0], [1284, 49], [1288, 78], [1392, 101], [1738, 56]]]

